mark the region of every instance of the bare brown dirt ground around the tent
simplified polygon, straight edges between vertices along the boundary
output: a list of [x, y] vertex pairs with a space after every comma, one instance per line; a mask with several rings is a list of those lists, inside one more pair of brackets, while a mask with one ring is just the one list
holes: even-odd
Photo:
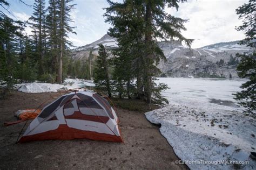
[[59, 95], [13, 91], [8, 99], [0, 100], [0, 169], [188, 169], [174, 163], [179, 158], [158, 126], [149, 123], [142, 112], [120, 108], [117, 112], [124, 144], [88, 139], [15, 144], [25, 122], [11, 126], [3, 123], [17, 120], [14, 111], [37, 108], [49, 97], [52, 101]]

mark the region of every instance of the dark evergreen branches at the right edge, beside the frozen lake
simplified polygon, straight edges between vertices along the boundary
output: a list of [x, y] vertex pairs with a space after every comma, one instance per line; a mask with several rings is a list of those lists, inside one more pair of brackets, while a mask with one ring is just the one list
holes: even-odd
[[255, 13], [256, 2], [249, 0], [248, 3], [236, 9], [239, 19], [242, 19], [243, 24], [236, 27], [238, 31], [245, 31], [246, 38], [240, 41], [240, 45], [251, 47], [251, 52], [244, 54], [237, 54], [241, 59], [237, 67], [238, 75], [240, 78], [249, 79], [241, 85], [242, 91], [235, 94], [235, 99], [239, 104], [246, 108], [246, 112], [253, 114], [256, 113], [256, 39], [255, 39]]

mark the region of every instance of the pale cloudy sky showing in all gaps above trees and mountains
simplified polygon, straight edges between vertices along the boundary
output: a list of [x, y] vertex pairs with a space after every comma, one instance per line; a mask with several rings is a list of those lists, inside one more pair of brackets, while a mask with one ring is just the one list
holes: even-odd
[[[27, 20], [33, 9], [20, 3], [18, 0], [7, 0], [10, 3], [8, 8], [13, 15], [20, 20]], [[33, 0], [23, 0], [29, 5]], [[47, 2], [48, 0], [46, 0]], [[122, 0], [115, 0], [122, 1]], [[189, 19], [185, 23], [186, 31], [181, 33], [186, 38], [195, 39], [192, 48], [199, 48], [206, 45], [243, 39], [244, 33], [235, 30], [235, 26], [241, 25], [235, 9], [248, 2], [248, 0], [187, 0], [176, 9], [166, 8], [165, 11], [173, 16]], [[71, 26], [76, 26], [76, 34], [69, 34], [69, 40], [75, 46], [83, 46], [100, 39], [106, 34], [110, 24], [104, 22], [103, 8], [109, 5], [105, 0], [74, 0], [76, 9], [71, 11], [71, 18], [74, 20]], [[47, 4], [46, 4], [47, 5]], [[3, 10], [3, 9], [0, 9]], [[29, 27], [26, 32], [31, 32]]]

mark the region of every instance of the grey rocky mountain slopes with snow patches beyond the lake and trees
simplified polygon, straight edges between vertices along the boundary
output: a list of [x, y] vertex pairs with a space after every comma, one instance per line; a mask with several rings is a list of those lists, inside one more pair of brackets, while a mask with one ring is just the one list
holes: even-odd
[[[90, 51], [98, 54], [97, 44], [102, 43], [107, 49], [117, 47], [116, 39], [105, 34], [99, 40], [91, 44], [73, 49], [73, 59], [83, 59], [89, 56]], [[220, 42], [218, 44], [190, 49], [184, 47], [181, 42], [162, 41], [159, 47], [164, 51], [167, 62], [161, 61], [158, 67], [163, 72], [162, 76], [170, 77], [226, 77], [237, 78], [235, 65], [228, 65], [231, 55], [243, 53], [249, 49], [238, 45], [238, 41]], [[221, 59], [223, 65], [218, 65]]]

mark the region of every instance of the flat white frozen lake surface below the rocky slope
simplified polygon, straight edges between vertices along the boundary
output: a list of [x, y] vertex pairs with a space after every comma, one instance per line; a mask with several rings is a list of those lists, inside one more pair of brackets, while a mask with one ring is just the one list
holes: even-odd
[[[157, 78], [157, 83], [165, 83], [170, 89], [163, 91], [163, 96], [174, 103], [191, 101], [210, 102], [211, 100], [235, 103], [234, 93], [240, 91], [244, 79], [191, 79], [191, 78]], [[231, 104], [232, 105], [232, 104]]]

